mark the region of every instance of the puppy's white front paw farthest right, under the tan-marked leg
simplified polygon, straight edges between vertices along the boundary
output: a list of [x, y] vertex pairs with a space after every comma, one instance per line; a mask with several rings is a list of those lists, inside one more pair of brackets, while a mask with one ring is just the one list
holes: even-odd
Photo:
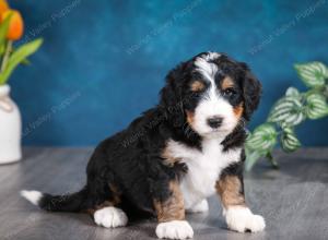
[[224, 214], [227, 227], [238, 232], [247, 230], [256, 232], [266, 227], [262, 216], [254, 215], [248, 207], [233, 206], [227, 208]]

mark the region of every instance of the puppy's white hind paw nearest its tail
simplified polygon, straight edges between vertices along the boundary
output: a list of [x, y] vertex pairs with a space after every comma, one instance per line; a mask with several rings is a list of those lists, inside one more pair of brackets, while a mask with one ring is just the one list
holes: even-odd
[[105, 228], [121, 227], [126, 226], [128, 223], [128, 217], [125, 212], [113, 206], [96, 211], [93, 217], [94, 221], [98, 226], [103, 226]]

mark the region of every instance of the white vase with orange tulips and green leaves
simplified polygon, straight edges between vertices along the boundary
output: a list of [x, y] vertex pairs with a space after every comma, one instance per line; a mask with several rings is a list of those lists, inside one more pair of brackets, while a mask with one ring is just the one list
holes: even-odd
[[12, 71], [42, 45], [36, 39], [21, 46], [14, 46], [23, 35], [23, 20], [19, 11], [9, 8], [0, 0], [0, 164], [17, 161], [21, 151], [21, 115], [17, 106], [10, 98], [7, 84]]

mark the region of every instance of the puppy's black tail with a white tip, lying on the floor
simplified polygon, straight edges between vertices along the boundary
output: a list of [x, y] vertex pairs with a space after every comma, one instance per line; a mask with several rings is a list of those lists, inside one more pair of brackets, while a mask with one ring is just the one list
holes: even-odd
[[87, 190], [72, 194], [50, 195], [38, 191], [22, 190], [21, 195], [42, 209], [50, 212], [80, 212], [86, 209]]

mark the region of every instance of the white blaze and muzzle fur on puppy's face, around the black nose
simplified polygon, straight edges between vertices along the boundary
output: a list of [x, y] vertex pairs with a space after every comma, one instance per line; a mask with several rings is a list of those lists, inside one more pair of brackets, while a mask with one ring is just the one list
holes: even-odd
[[[233, 106], [220, 95], [219, 87], [215, 84], [214, 77], [218, 65], [209, 61], [216, 58], [220, 58], [219, 53], [210, 52], [208, 56], [198, 57], [195, 61], [197, 71], [210, 82], [210, 87], [195, 109], [192, 124], [194, 130], [204, 136], [218, 136], [218, 134], [225, 136], [233, 131], [238, 122]], [[208, 124], [208, 119], [214, 116], [223, 118], [221, 127], [215, 130]]]

